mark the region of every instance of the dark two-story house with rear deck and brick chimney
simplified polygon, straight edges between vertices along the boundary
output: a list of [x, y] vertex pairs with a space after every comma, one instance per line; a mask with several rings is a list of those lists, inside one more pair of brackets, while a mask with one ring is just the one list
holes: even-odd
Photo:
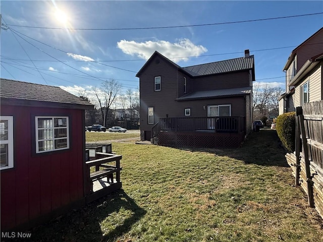
[[255, 71], [249, 50], [244, 57], [184, 68], [155, 51], [136, 76], [141, 140], [238, 146], [251, 132]]

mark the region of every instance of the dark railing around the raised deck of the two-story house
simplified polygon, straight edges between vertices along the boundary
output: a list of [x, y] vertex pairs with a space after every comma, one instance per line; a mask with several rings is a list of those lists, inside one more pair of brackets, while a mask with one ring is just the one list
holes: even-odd
[[162, 117], [159, 118], [159, 131], [174, 132], [245, 132], [245, 117]]

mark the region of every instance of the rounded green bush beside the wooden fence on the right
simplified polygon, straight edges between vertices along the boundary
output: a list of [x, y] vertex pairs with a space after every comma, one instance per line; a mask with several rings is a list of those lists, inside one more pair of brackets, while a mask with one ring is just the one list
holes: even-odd
[[296, 113], [286, 112], [277, 117], [276, 131], [283, 146], [289, 151], [295, 150]]

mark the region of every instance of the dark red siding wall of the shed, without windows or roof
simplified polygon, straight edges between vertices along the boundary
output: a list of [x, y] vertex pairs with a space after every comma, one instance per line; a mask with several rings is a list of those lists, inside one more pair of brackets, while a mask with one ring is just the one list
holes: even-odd
[[[13, 116], [14, 168], [1, 171], [1, 225], [9, 229], [83, 197], [82, 110], [1, 106]], [[70, 149], [35, 154], [34, 116], [69, 116]]]

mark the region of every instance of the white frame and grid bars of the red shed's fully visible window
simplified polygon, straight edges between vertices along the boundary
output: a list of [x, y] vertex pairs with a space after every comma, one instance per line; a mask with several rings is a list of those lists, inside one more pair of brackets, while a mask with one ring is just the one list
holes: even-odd
[[[55, 138], [55, 129], [62, 129], [62, 127], [52, 127], [52, 128], [46, 128], [46, 129], [52, 129], [53, 130], [53, 137], [52, 137], [52, 142], [53, 142], [53, 149], [51, 150], [42, 150], [39, 151], [38, 147], [38, 118], [52, 118], [52, 123], [54, 124], [54, 118], [66, 118], [66, 132], [67, 132], [67, 137], [64, 138]], [[65, 128], [65, 127], [63, 127]], [[66, 150], [70, 148], [70, 124], [69, 124], [69, 117], [68, 116], [35, 116], [35, 138], [36, 138], [36, 153], [46, 153], [46, 152], [52, 152], [52, 151], [57, 151], [57, 150]], [[67, 139], [67, 147], [64, 148], [58, 148], [55, 149], [55, 140], [60, 140], [60, 139]]]

